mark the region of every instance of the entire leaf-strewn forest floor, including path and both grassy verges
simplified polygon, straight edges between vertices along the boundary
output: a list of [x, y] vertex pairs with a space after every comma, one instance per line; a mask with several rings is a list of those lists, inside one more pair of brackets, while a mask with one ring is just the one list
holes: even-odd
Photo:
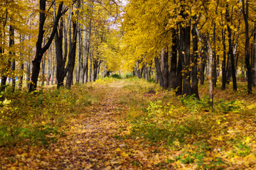
[[[228, 86], [231, 88], [231, 85]], [[0, 169], [256, 169], [256, 96], [136, 78], [4, 94]]]

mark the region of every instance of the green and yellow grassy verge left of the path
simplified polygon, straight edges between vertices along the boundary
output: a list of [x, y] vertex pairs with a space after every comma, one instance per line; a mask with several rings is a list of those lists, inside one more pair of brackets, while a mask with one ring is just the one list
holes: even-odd
[[[6, 93], [1, 101], [0, 146], [25, 142], [47, 146], [63, 133], [60, 126], [88, 105], [97, 103], [104, 93], [93, 86], [76, 85], [73, 89], [45, 89], [27, 93]], [[90, 93], [89, 93], [90, 91]], [[1, 94], [2, 95], [2, 94]]]

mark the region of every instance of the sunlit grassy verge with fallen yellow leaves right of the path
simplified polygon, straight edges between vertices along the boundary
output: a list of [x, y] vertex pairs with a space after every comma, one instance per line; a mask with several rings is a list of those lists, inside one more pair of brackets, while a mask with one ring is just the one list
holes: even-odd
[[[133, 80], [132, 80], [133, 81]], [[211, 108], [207, 86], [200, 86], [201, 100], [176, 97], [154, 84], [135, 81], [124, 86], [120, 102], [130, 110], [126, 137], [144, 139], [157, 152], [166, 152], [164, 164], [178, 169], [254, 169], [256, 167], [255, 94], [215, 89]], [[127, 98], [127, 100], [124, 100]], [[159, 165], [160, 166], [160, 165]]]

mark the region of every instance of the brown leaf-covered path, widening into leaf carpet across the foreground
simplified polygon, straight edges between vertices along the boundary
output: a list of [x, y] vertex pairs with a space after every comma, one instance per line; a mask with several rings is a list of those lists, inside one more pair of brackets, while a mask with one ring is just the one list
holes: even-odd
[[[104, 94], [63, 125], [65, 136], [48, 148], [22, 147], [10, 154], [6, 169], [159, 169], [164, 154], [155, 152], [144, 140], [125, 137], [129, 123], [124, 115], [129, 110], [124, 101], [127, 81], [114, 81], [93, 86], [94, 93]], [[137, 85], [136, 85], [137, 86]], [[127, 90], [126, 93], [131, 93]], [[131, 94], [132, 95], [132, 94]], [[122, 96], [122, 100], [120, 97]], [[122, 102], [124, 103], [122, 103]], [[136, 102], [139, 101], [136, 98]], [[10, 152], [11, 153], [11, 152]], [[18, 160], [12, 162], [11, 160]], [[1, 166], [0, 166], [1, 167]], [[8, 168], [10, 167], [10, 168]], [[11, 168], [12, 167], [12, 168]], [[0, 168], [1, 169], [1, 168]], [[166, 169], [170, 169], [166, 168]]]

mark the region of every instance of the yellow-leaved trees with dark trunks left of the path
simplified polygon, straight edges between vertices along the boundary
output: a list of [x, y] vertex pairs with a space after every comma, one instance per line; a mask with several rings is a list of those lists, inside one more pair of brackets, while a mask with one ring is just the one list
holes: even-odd
[[28, 91], [38, 81], [70, 88], [121, 63], [107, 54], [119, 49], [119, 41], [112, 41], [116, 28], [110, 28], [119, 17], [117, 1], [0, 1], [0, 8], [1, 91], [9, 79], [13, 90], [16, 79], [19, 89], [26, 79]]

